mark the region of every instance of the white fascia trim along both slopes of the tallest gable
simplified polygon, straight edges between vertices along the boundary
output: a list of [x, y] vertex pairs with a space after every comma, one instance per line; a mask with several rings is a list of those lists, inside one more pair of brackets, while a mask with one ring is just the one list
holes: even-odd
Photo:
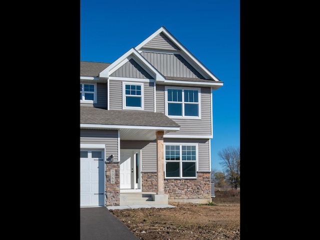
[[181, 51], [186, 54], [192, 61], [194, 61], [196, 64], [198, 64], [201, 69], [208, 74], [213, 80], [220, 81], [209, 69], [207, 69], [196, 57], [189, 52], [168, 30], [166, 30], [163, 26], [161, 26], [158, 30], [156, 30], [154, 33], [152, 33], [149, 37], [147, 37], [144, 41], [142, 41], [140, 44], [138, 44], [135, 49], [139, 50], [142, 46], [144, 46], [147, 42], [149, 42], [151, 39], [153, 39], [157, 34], [159, 33], [165, 34], [174, 44], [176, 44]]

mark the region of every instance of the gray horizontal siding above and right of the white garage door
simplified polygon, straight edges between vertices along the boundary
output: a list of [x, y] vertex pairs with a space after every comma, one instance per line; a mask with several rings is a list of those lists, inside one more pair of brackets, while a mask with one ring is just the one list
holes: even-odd
[[118, 160], [117, 137], [117, 130], [80, 129], [80, 144], [105, 144], [105, 159], [113, 154], [114, 161]]

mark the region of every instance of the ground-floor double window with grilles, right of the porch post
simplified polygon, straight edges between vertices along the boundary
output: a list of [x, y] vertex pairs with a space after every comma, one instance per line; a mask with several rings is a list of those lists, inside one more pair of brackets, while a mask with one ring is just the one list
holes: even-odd
[[197, 144], [164, 144], [165, 178], [196, 178]]

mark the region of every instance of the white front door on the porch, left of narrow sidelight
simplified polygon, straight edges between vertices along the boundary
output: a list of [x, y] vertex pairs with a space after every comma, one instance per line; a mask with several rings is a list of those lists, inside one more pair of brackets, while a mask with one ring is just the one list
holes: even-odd
[[131, 189], [132, 151], [120, 150], [120, 188]]

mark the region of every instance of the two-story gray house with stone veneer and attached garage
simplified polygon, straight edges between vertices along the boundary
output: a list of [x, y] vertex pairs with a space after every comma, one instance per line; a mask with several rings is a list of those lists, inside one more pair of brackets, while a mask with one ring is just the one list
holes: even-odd
[[210, 202], [222, 85], [163, 26], [112, 63], [80, 61], [80, 206]]

